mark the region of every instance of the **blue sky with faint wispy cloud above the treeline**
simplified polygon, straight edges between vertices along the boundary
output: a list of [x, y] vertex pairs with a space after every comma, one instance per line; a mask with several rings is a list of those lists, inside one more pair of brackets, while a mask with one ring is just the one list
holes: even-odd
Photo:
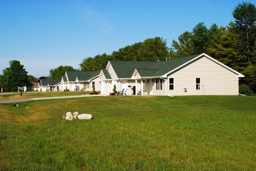
[[29, 75], [48, 76], [50, 69], [79, 68], [88, 56], [156, 36], [170, 47], [199, 22], [227, 26], [242, 2], [0, 0], [0, 73], [18, 60]]

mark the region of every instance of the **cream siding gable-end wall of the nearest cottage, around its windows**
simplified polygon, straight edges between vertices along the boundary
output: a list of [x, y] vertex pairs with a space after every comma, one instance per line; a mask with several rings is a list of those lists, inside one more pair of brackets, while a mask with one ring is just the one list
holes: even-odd
[[[169, 78], [174, 78], [174, 90], [169, 90]], [[201, 88], [196, 89], [196, 78]], [[187, 92], [184, 92], [187, 88]], [[157, 94], [154, 87], [154, 94]], [[238, 76], [207, 59], [199, 59], [168, 76], [168, 95], [237, 95]]]

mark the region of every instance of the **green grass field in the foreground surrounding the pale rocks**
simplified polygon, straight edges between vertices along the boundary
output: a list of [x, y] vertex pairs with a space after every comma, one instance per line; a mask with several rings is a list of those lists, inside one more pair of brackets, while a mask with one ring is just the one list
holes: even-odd
[[[0, 104], [0, 170], [256, 170], [255, 96]], [[67, 111], [92, 120], [62, 120]]]

